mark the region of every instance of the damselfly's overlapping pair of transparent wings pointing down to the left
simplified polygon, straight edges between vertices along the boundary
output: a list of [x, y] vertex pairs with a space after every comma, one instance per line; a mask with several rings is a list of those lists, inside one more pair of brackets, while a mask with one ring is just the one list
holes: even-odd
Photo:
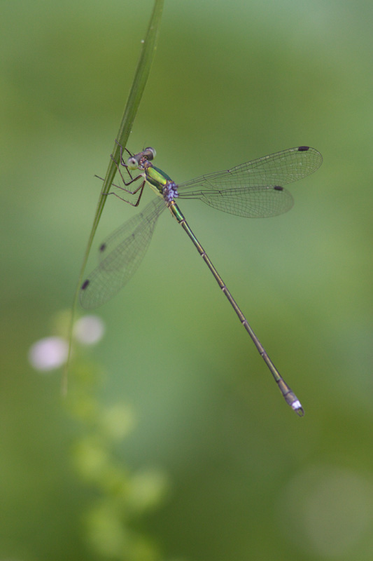
[[83, 308], [101, 306], [132, 277], [146, 254], [155, 223], [164, 208], [167, 207], [163, 199], [156, 198], [100, 245], [100, 264], [80, 288]]

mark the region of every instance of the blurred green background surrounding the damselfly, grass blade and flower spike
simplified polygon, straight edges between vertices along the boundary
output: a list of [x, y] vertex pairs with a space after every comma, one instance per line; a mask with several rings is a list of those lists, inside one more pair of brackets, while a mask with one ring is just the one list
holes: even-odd
[[[71, 461], [82, 428], [27, 353], [71, 304], [152, 7], [1, 4], [0, 559], [103, 558], [82, 522], [98, 491]], [[280, 217], [181, 207], [303, 419], [166, 213], [99, 309], [97, 400], [136, 417], [118, 459], [169, 479], [136, 520], [161, 558], [372, 559], [372, 20], [371, 1], [164, 6], [130, 149], [154, 146], [176, 182], [300, 144], [324, 163]], [[134, 212], [109, 198], [88, 269]]]

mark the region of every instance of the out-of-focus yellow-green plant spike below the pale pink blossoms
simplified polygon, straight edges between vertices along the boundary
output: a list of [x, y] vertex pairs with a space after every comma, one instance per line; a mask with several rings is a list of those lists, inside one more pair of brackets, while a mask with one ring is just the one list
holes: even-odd
[[67, 403], [72, 419], [80, 421], [73, 464], [96, 495], [81, 517], [85, 541], [103, 559], [160, 560], [155, 544], [140, 532], [139, 520], [162, 500], [164, 474], [150, 469], [131, 473], [120, 458], [119, 445], [134, 428], [134, 413], [124, 403], [104, 406], [99, 401], [102, 374], [97, 365], [73, 360], [70, 375], [73, 388]]

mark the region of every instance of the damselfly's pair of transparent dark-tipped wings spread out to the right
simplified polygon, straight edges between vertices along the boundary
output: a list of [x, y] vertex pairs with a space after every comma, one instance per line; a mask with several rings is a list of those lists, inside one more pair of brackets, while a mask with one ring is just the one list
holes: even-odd
[[283, 185], [314, 173], [322, 162], [314, 148], [290, 148], [181, 183], [178, 193], [180, 198], [197, 198], [233, 215], [276, 216], [293, 206], [293, 197]]

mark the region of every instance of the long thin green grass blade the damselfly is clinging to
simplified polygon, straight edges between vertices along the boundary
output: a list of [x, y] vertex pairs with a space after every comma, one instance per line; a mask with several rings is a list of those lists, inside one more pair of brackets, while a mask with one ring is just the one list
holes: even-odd
[[[150, 17], [148, 31], [146, 32], [146, 38], [144, 41], [141, 41], [142, 47], [141, 47], [139, 63], [136, 68], [134, 81], [132, 83], [132, 87], [129, 92], [127, 104], [122, 116], [122, 120], [120, 121], [120, 127], [116, 139], [122, 145], [122, 147], [125, 147], [127, 144], [129, 133], [131, 132], [132, 125], [134, 123], [134, 118], [136, 116], [137, 110], [139, 109], [139, 104], [141, 101], [141, 97], [143, 95], [143, 90], [145, 89], [146, 82], [148, 81], [148, 77], [150, 74], [150, 67], [153, 63], [155, 48], [157, 46], [157, 39], [160, 31], [160, 21], [162, 18], [163, 4], [164, 4], [164, 0], [155, 0], [153, 13]], [[116, 143], [114, 144], [112, 154], [115, 160], [118, 161], [120, 155], [120, 148]], [[106, 198], [107, 198], [106, 195], [108, 194], [111, 184], [113, 183], [116, 171], [117, 168], [115, 166], [115, 163], [113, 162], [113, 160], [110, 159], [104, 179], [104, 184], [101, 189], [99, 202], [97, 204], [97, 210], [94, 215], [90, 237], [88, 238], [88, 243], [83, 258], [83, 263], [80, 268], [75, 295], [73, 297], [73, 305], [71, 308], [71, 320], [70, 320], [69, 333], [68, 333], [69, 355], [66, 360], [66, 365], [64, 368], [64, 374], [62, 378], [62, 393], [64, 394], [66, 394], [67, 391], [67, 373], [69, 371], [69, 363], [70, 363], [71, 350], [72, 350], [73, 320], [76, 313], [76, 304], [78, 303], [79, 289], [83, 281], [83, 274], [84, 274], [85, 266], [87, 264], [88, 255], [90, 255], [94, 234], [96, 233], [102, 210], [104, 210], [104, 205], [106, 203]]]

